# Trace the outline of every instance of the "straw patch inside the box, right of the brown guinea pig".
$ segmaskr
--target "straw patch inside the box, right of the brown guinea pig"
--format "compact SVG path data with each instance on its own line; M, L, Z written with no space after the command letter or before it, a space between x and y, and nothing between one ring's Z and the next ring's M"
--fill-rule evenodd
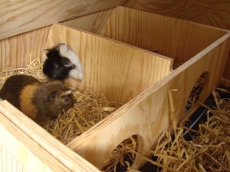
M90 89L73 91L77 102L64 115L44 127L50 134L67 144L121 106L109 102L104 95L96 96Z

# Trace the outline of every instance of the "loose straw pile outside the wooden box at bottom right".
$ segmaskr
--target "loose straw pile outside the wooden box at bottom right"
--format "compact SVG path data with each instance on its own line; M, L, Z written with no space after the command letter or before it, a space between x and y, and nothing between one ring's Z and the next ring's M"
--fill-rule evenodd
M208 120L193 131L192 141L183 138L187 128L182 123L174 130L175 138L169 131L159 137L151 151L156 161L135 153L159 167L158 171L230 171L230 99L221 99L216 90L212 93L216 106L206 107Z

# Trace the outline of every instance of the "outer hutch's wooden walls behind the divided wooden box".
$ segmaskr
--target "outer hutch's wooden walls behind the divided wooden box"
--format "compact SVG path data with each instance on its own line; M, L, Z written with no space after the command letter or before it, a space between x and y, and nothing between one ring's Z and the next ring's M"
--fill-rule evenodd
M118 5L230 30L230 0L3 0L0 70L25 66L30 54L41 56L51 24L64 21L96 33ZM228 66L230 55L223 75L230 80Z

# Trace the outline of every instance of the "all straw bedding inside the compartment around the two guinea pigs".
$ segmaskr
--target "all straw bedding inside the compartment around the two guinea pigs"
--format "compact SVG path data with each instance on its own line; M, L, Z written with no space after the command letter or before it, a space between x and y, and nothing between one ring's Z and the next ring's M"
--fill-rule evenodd
M36 58L30 60L25 68L8 67L4 69L0 73L0 88L9 76L17 74L33 76L40 82L48 81L42 72L42 66L40 59ZM73 95L77 100L74 107L64 112L64 115L59 115L51 124L43 126L63 144L69 143L121 106L119 103L109 102L104 95L95 95L88 88L73 90Z

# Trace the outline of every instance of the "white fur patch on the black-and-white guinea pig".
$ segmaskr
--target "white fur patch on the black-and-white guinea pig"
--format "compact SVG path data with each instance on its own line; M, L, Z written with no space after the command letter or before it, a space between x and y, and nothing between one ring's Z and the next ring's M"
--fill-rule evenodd
M83 79L82 64L78 55L67 44L61 44L59 46L59 52L61 56L68 58L74 65L75 69L70 71L70 77Z

